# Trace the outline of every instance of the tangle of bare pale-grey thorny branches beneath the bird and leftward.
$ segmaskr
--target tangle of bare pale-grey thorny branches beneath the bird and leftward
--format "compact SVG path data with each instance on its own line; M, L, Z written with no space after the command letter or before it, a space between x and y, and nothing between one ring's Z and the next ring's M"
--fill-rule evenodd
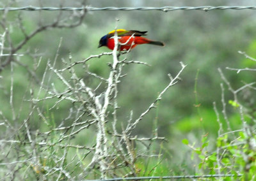
M19 17L20 31L24 39L14 45L8 29L4 12L1 26L0 66L1 70L10 65L10 112L6 117L0 108L0 126L5 134L0 140L1 169L3 179L38 180L75 180L83 178L108 178L136 176L140 172L136 161L141 157L159 157L149 149L156 140L166 141L154 134L143 138L132 131L144 119L152 108L156 107L164 92L179 82L180 73L186 67L180 62L181 69L175 76L168 75L170 83L166 85L151 105L139 117L133 113L127 120L118 118L118 84L122 83L122 69L129 64L142 64L140 61L127 61L125 54L118 52L118 37L115 36L115 49L110 53L91 55L83 61L73 61L70 54L67 59L59 57L61 40L53 61L45 66L44 75L37 76L42 65L42 57L33 58L33 68L19 61L18 51L36 34L50 28L75 27L81 24L85 12L79 14L77 22L66 24L60 15L47 25L39 25L32 33L26 33ZM129 52L129 51L128 51ZM126 53L128 53L126 52ZM86 62L101 56L112 55L107 78L88 70ZM61 59L61 60L60 60ZM122 60L120 60L122 59ZM63 67L56 68L56 61L62 61ZM23 66L30 78L23 98L19 98L19 107L15 105L13 95L13 72L17 66ZM89 85L77 76L76 66L81 66L97 85ZM39 85L39 87L38 87ZM101 92L99 92L102 90ZM51 112L65 104L67 116L56 120ZM25 106L26 105L26 106ZM68 105L68 106L67 106ZM25 117L21 116L26 115ZM120 124L126 122L126 124ZM33 126L38 123L40 127ZM121 125L121 128L118 126ZM36 129L35 129L36 127ZM86 136L83 143L77 143L77 136Z

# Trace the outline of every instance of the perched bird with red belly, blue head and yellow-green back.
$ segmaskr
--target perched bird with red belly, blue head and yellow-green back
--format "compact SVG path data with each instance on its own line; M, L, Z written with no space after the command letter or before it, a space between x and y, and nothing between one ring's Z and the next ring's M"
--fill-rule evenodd
M158 45L161 47L164 46L164 43L161 41L153 41L144 38L143 36L147 35L147 31L116 29L100 38L98 48L105 46L110 50L113 50L115 48L115 40L113 38L113 36L115 36L115 31L118 35L118 41L120 43L118 50L120 51L130 50L140 44Z

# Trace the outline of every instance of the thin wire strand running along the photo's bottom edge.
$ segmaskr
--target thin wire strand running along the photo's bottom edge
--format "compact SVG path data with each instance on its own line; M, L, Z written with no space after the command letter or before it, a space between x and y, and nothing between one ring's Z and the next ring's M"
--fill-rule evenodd
M88 181L115 181L115 180L147 180L147 179L180 179L180 178L223 178L223 177L235 177L232 174L223 174L223 175L180 175L180 176L164 176L164 177L125 177L125 178L109 178L102 180L88 180ZM238 174L236 177L242 177L242 175Z

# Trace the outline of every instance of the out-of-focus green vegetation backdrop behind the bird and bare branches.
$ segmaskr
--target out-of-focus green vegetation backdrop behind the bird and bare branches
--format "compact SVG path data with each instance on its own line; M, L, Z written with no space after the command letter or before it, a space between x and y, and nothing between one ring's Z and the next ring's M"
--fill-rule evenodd
M79 6L79 1L42 1L42 6ZM4 4L4 3L2 3ZM6 5L6 4L5 4ZM38 1L19 1L13 6L38 6ZM86 5L92 7L138 7L138 6L250 6L253 1L159 1L159 0L133 0L133 1L86 1ZM58 15L57 11L22 11L9 12L11 37L14 42L22 40L19 26L15 18L21 13L26 32L31 32L40 22L42 24L52 22ZM70 12L63 12L63 17L69 16ZM182 145L183 138L189 140L200 140L201 136L209 134L215 137L218 133L218 123L212 103L216 102L218 111L221 112L221 89L220 73L218 68L230 81L234 89L243 86L243 82L255 81L255 74L242 71L225 69L231 68L255 68L255 64L238 54L237 51L245 51L248 55L256 57L255 41L255 10L212 10L212 11L89 11L83 20L83 24L74 29L49 29L38 35L19 51L23 54L27 50L31 55L19 57L20 61L32 67L33 55L42 55L42 64L45 65L48 59L53 61L60 39L62 38L60 56L57 67L63 67L61 58L68 59L72 55L72 61L81 61L90 55L97 55L102 52L110 52L108 48L97 48L100 38L115 29L116 18L118 28L139 31L148 31L148 38L164 41L165 47L151 45L140 45L131 51L128 60L143 61L151 67L130 64L125 66L124 73L127 76L122 78L119 87L118 117L120 122L129 119L131 110L134 112L134 119L141 112L145 111L150 103L157 98L169 83L168 73L173 76L181 68L180 61L188 66L180 76L182 81L171 87L159 102L157 110L150 112L140 122L134 134L138 136L152 135L153 121L157 116L159 136L165 136L169 143L166 143L166 150L170 153L173 163L181 165L186 157L186 146ZM1 33L3 33L1 29ZM39 57L36 58L39 61ZM35 60L36 60L35 59ZM108 62L112 61L111 56L103 56L100 59L88 61L89 70L100 76L107 77L109 73ZM29 73L25 68L13 64L13 100L14 108L19 111L20 100L24 98L25 92L29 89ZM42 78L45 66L38 71ZM196 79L196 74L197 81ZM1 111L8 119L12 118L10 110L10 66L4 68L0 79L0 102ZM83 69L77 67L77 76L84 78L85 82L95 86ZM195 83L196 94L195 94ZM62 85L55 85L61 89ZM99 93L102 89L99 89ZM248 93L249 94L249 93ZM255 95L247 96L246 92L239 94L239 101L255 98ZM197 101L196 97L197 96ZM228 101L232 94L225 86L225 99ZM46 103L51 107L54 101ZM195 105L199 105L196 107ZM252 103L255 107L255 103ZM252 107L253 107L252 106ZM65 103L53 109L52 113L57 124L67 117ZM239 127L241 122L237 120L234 108L228 105L228 117L232 129ZM26 106L22 109L21 115L26 117ZM20 116L22 117L22 116ZM202 119L201 119L202 118ZM223 117L221 116L221 120ZM19 121L19 120L18 120ZM20 120L22 121L22 120ZM40 122L35 122L34 129L41 127ZM227 127L224 124L224 127ZM77 139L84 139L83 137ZM79 140L77 140L79 142Z

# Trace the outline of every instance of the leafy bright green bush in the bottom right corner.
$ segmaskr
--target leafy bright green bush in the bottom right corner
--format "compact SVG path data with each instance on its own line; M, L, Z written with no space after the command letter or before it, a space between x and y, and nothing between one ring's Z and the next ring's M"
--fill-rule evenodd
M209 151L209 140L202 138L201 146L195 148L188 140L182 141L192 148L192 156L198 157L198 170L204 174L233 174L239 180L253 180L256 172L255 143L256 135L248 136L239 131L234 134L223 134L216 140L216 150ZM229 178L231 179L231 178ZM231 179L232 180L232 179Z

